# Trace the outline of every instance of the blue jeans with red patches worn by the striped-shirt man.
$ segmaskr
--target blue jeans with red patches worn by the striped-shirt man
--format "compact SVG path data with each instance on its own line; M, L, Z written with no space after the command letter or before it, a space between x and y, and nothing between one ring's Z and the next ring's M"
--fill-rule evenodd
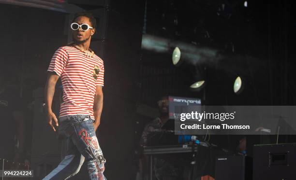
M90 180L106 180L106 162L89 115L64 116L59 119L59 133L66 137L65 158L43 180L66 180L87 163Z

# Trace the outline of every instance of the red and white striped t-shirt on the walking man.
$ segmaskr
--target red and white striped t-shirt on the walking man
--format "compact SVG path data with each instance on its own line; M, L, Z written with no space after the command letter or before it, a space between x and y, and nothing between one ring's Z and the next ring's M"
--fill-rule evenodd
M63 86L59 117L89 114L94 118L96 86L104 86L103 60L97 55L87 57L73 46L63 46L53 55L47 71L56 72Z

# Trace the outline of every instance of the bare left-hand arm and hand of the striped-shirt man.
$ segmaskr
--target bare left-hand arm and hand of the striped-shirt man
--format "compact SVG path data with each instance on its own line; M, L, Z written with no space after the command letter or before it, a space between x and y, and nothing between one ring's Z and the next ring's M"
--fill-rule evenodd
M54 72L50 72L47 75L47 80L45 84L45 108L46 108L46 115L47 115L47 123L52 127L54 131L56 131L53 121L55 122L56 126L59 126L58 119L56 115L52 112L51 105L52 99L55 94L55 87L56 83L59 80L59 75L55 74Z

